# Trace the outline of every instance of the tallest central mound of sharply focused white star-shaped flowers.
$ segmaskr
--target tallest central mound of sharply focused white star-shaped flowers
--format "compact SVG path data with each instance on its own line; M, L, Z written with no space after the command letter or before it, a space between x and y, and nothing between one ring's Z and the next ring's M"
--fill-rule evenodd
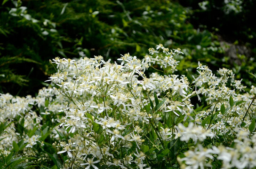
M189 115L192 105L187 93L189 82L185 76L144 75L145 69L155 64L174 72L178 63L174 56L182 52L180 49L169 52L161 44L156 50L151 48L149 51L152 55L143 60L124 54L118 59L120 64L104 61L102 56L77 61L56 58L52 61L57 64L58 72L49 81L59 86L59 92L71 100L61 110L65 116L60 125L69 133L75 133L76 139L56 145L63 149L58 154L67 153L70 157L70 161L66 161L67 166L75 156L76 165L87 168L97 168L95 163L124 169L150 167L141 147L147 133L144 128L152 130L151 123L161 120L159 113L144 109L150 103L149 98L154 100L153 92L159 101L163 101L162 92L183 98L181 102L164 100L158 111L176 116L186 114L192 118ZM144 92L149 94L149 98L144 96ZM152 104L156 106L155 102ZM174 133L168 131L163 129L156 141L174 138ZM133 146L136 148L129 152ZM114 149L123 149L124 152ZM117 159L121 153L127 158Z

